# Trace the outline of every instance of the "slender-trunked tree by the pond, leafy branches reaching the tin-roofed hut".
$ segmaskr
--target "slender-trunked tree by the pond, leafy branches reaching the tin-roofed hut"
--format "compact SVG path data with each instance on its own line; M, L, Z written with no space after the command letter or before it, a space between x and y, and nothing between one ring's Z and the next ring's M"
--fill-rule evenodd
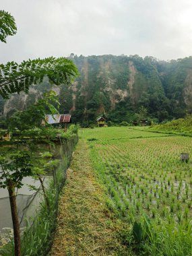
M37 177L42 185L44 199L49 210L49 200L46 197L41 175L47 168L53 168L56 164L50 152L40 152L37 144L40 141L53 144L53 138L57 136L57 129L40 128L40 122L44 119L46 111L55 114L57 109L53 104L58 104L55 92L46 93L44 98L23 112L15 113L9 119L9 131L14 132L11 137L11 146L1 147L0 156L0 187L7 188L11 205L13 220L13 234L15 243L15 255L21 255L20 224L16 204L15 189L22 187L24 177ZM39 128L38 128L39 127ZM27 139L26 139L27 138Z

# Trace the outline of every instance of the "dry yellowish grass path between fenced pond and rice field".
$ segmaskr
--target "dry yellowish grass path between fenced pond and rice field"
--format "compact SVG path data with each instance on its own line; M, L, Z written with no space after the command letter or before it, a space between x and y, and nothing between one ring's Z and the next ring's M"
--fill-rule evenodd
M117 238L120 226L104 207L104 189L94 177L88 145L80 139L67 170L49 255L129 255Z

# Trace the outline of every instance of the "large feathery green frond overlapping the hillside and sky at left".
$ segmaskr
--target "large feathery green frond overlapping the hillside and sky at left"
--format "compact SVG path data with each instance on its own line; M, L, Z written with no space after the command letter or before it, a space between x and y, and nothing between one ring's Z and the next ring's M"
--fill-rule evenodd
M13 92L28 92L32 84L42 82L44 76L51 84L69 84L78 71L69 59L49 57L18 64L14 61L0 65L0 94L8 98Z

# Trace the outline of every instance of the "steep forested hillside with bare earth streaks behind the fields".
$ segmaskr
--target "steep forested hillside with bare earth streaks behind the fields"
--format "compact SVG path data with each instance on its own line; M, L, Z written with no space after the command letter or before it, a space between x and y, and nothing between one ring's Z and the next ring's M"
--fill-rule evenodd
M90 56L71 54L79 77L69 87L53 87L59 94L61 113L71 113L75 123L94 123L105 115L108 121L164 121L184 117L192 110L192 57L158 61L153 57ZM13 95L0 101L0 113L10 116L35 102L51 85L44 79L28 95Z

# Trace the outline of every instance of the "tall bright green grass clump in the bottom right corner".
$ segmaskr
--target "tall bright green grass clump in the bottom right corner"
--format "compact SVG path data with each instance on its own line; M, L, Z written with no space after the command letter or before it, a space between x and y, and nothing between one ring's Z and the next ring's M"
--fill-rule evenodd
M141 252L144 251L145 255L191 254L191 222L184 220L178 223L171 214L168 217L168 220L156 218L152 221L146 215L141 217Z

